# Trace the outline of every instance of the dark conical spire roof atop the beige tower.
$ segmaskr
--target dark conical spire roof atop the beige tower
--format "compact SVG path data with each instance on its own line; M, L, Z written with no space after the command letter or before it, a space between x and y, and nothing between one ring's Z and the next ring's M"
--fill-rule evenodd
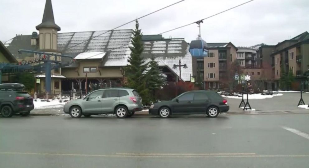
M39 30L41 27L53 27L60 31L60 27L55 23L51 0L46 0L42 23L36 26L36 30Z

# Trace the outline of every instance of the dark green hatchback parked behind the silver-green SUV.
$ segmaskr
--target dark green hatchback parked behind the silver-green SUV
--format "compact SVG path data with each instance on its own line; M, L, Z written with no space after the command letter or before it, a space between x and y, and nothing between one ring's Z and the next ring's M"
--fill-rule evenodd
M219 113L226 113L230 106L227 100L211 90L195 90L185 92L170 101L154 103L150 106L149 113L168 118L174 114L206 114L217 117Z

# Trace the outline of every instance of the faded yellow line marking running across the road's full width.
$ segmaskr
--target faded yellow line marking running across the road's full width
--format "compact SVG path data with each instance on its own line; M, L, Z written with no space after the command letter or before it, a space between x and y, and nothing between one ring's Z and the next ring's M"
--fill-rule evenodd
M32 153L32 152L0 152L0 155L50 155L50 156L92 156L92 157L134 157L134 158L233 158L233 157L309 157L309 155L89 155L89 154L65 154L65 153ZM225 155L224 155L225 154ZM250 153L249 153L250 154Z

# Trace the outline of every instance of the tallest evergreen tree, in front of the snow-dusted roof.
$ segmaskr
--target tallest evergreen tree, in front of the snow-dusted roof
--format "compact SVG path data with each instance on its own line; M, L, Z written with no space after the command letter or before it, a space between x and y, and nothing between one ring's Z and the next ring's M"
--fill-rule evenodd
M143 99L143 103L147 103L148 89L146 88L145 70L147 64L145 64L144 58L141 56L144 46L142 42L142 32L139 29L139 23L136 20L135 30L133 31L133 37L131 37L132 46L129 46L131 50L130 58L125 70L126 86L132 89L136 89Z

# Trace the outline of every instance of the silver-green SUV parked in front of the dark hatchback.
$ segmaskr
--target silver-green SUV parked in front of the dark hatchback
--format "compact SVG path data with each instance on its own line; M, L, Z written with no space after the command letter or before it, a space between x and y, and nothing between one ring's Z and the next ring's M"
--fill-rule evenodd
M71 100L64 105L64 113L72 118L82 115L116 114L118 118L131 117L143 109L142 98L134 89L99 89L86 97Z

